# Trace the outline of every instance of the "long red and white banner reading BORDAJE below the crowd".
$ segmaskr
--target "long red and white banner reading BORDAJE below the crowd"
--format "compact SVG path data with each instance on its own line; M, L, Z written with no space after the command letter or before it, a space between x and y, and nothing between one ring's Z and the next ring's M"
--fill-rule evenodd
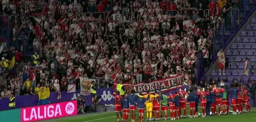
M146 94L147 91L150 91L150 93L153 93L156 90L159 90L159 88L162 92L180 89L183 82L184 82L183 75L178 74L173 77L167 77L164 79L155 80L155 81L152 81L151 83L141 82L137 85L123 83L122 85L123 87L125 87L126 92L131 92L131 90L135 90L135 93ZM115 89L117 85L118 83L114 83L114 87L113 87L114 95L115 95Z

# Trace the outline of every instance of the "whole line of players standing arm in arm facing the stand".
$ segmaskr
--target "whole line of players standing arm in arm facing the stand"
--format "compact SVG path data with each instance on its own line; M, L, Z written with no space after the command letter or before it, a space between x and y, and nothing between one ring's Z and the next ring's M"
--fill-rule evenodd
M189 92L185 92L183 87L181 87L180 91L175 92L167 96L163 92L155 92L155 94L150 94L147 91L146 95L134 94L133 90L131 94L126 94L124 97L119 95L119 91L117 91L117 95L115 95L115 112L117 114L117 121L119 121L119 113L122 121L127 121L129 111L131 115L131 121L135 122L135 111L138 107L139 112L139 121L143 121L144 118L144 108L146 105L146 113L147 120L160 120L163 118L167 120L167 111L168 107L171 113L171 120L180 119L181 110L184 111L184 116L187 115L185 101L189 102L189 109L191 117L197 117L196 108L198 106L198 99L201 102L201 108L203 110L203 116L210 116L210 111L212 115L215 115L216 108L218 107L218 115L222 114L226 115L229 112L229 98L232 99L233 106L233 115L237 113L243 112L243 107L246 107L246 111L250 112L250 94L247 85L240 85L238 83L231 83L230 89L228 86L221 86L220 88L216 86L216 89L213 90L212 87L200 88L200 90L193 90ZM122 105L122 106L121 106ZM159 118L159 111L161 108L161 115ZM238 112L237 112L238 108ZM122 112L123 110L123 112ZM156 118L155 118L156 113Z

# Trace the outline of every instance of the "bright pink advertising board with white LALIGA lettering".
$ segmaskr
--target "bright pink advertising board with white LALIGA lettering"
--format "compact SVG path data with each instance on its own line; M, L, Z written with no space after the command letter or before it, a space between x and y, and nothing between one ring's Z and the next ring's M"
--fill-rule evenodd
M77 115L76 100L21 108L21 122L40 121Z

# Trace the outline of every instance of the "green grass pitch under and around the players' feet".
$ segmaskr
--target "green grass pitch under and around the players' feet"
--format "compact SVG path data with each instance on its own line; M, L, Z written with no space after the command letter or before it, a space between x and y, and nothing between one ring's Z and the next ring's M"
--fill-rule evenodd
M244 109L245 110L245 109ZM201 110L199 109L201 113ZM187 109L187 115L190 114L190 111ZM146 112L144 113L144 119L146 118ZM183 115L183 112L181 112ZM170 116L170 112L168 112L168 116ZM120 120L120 118L119 118ZM101 112L101 113L89 113L84 115L63 117L59 119L46 120L44 122L115 122L117 121L117 117L115 116L115 112ZM130 121L130 115L129 115ZM138 113L136 114L136 121L138 121ZM174 121L168 119L167 121ZM229 113L228 115L215 115L210 117L197 117L197 118L181 118L180 120L175 121L195 121L195 122L254 122L256 121L256 110L253 110L251 113L241 113L240 115L232 115ZM164 120L159 120L159 122L164 122Z

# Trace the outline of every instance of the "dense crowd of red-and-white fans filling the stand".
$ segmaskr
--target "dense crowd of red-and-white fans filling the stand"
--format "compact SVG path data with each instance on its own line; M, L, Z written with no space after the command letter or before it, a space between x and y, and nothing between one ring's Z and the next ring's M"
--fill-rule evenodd
M10 44L0 48L1 62L6 62L1 63L1 96L36 94L40 86L67 91L75 83L79 89L79 77L97 79L96 87L111 87L114 82L152 82L183 73L195 84L197 52L207 68L214 30L230 17L236 2L2 0ZM27 57L30 47L32 56ZM13 56L15 71L9 68Z

